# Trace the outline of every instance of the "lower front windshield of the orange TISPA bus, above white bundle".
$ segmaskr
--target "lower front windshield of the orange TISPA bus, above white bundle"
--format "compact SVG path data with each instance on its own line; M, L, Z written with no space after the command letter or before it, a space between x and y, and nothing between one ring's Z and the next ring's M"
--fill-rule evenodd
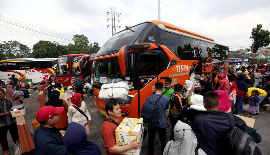
M94 83L96 85L126 82L130 87L133 86L132 69L133 54L128 54L129 73L128 77L122 76L118 57L93 61Z

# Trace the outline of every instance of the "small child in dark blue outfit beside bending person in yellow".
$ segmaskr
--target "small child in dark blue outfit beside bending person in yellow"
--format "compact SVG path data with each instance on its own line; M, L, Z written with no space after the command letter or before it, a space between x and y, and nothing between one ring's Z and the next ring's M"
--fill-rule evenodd
M251 114L253 114L253 116L251 118L255 118L255 114L259 105L259 91L258 90L252 90L252 97L250 99L250 103L249 103L249 114L247 114L246 116L251 116Z

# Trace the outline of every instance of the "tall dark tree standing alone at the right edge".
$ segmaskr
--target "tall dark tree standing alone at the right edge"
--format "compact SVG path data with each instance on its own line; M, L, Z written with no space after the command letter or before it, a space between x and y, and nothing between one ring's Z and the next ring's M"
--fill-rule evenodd
M250 47L253 53L258 51L259 47L268 46L270 43L270 32L268 30L262 30L262 24L257 24L256 28L251 31L252 45Z

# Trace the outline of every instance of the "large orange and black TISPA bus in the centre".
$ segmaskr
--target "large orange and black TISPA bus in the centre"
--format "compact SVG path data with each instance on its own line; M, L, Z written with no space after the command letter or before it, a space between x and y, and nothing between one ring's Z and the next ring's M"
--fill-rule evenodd
M171 86L194 80L200 72L228 72L228 46L214 39L158 20L114 34L91 56L95 105L103 115L106 101L98 95L102 83L127 82L134 98L118 101L122 116L139 117L157 81ZM102 80L102 81L101 81Z

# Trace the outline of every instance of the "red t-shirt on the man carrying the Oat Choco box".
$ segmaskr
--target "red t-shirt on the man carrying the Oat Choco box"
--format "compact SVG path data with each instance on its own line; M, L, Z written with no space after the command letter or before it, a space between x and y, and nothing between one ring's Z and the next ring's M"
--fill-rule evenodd
M106 117L108 118L108 117ZM121 121L123 120L122 117L117 118L117 123L120 124ZM109 122L109 121L104 121L101 127L101 135L104 141L105 149L106 149L106 154L107 155L117 155L115 153L110 153L108 150L108 147L112 147L116 145L115 142L115 130L117 126L116 124Z

